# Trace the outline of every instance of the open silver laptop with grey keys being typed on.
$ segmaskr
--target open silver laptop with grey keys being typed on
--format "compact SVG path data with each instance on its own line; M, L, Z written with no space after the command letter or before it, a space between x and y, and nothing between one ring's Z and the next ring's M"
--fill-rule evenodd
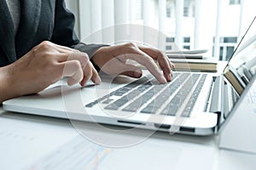
M86 88L61 80L38 94L5 101L3 109L168 133L218 133L255 82L254 20L218 77L173 71L172 82L160 84L143 71L140 79L102 75L101 85Z

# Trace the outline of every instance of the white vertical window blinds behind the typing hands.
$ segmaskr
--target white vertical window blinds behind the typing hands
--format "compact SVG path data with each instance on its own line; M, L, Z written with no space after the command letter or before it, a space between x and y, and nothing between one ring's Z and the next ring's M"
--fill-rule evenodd
M173 39L177 49L207 48L208 55L215 57L224 48L221 42L225 37L222 35L222 18L230 0L78 1L80 37L86 42L137 40L166 50L166 41ZM248 0L239 4L237 40L245 30L245 4L249 4ZM230 8L236 8L236 5Z

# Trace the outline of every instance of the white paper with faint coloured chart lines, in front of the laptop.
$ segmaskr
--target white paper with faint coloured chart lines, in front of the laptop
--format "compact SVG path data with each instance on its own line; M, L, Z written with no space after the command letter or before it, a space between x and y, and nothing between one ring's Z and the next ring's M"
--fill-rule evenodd
M214 150L199 144L148 139L124 148L108 148L78 135L58 150L35 161L32 169L210 169ZM153 163L154 162L154 163Z

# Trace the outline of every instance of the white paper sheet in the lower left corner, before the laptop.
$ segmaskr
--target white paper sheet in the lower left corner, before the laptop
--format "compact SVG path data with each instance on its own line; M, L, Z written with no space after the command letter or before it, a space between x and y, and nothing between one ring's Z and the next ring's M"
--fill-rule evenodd
M0 114L0 169L23 169L73 139L68 123Z

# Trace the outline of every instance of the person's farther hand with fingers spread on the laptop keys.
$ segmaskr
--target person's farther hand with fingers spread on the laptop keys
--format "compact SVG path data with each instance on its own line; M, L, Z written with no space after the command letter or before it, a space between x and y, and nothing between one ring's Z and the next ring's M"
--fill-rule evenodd
M125 75L128 77L142 77L142 70L135 66L127 64L127 60L135 60L144 65L148 71L161 83L172 81L172 69L174 65L159 50L147 47L138 47L134 43L125 43L122 45L100 48L92 57L96 65L108 75ZM158 62L159 66L156 64Z

